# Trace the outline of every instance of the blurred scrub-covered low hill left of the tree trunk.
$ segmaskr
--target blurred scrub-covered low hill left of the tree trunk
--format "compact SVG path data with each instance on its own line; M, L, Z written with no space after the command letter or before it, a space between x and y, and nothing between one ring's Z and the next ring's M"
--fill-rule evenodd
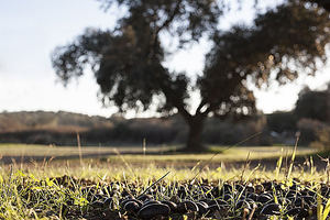
M125 119L73 112L20 111L0 113L0 143L84 145L184 142L186 125L170 118ZM179 139L179 140L178 140Z

